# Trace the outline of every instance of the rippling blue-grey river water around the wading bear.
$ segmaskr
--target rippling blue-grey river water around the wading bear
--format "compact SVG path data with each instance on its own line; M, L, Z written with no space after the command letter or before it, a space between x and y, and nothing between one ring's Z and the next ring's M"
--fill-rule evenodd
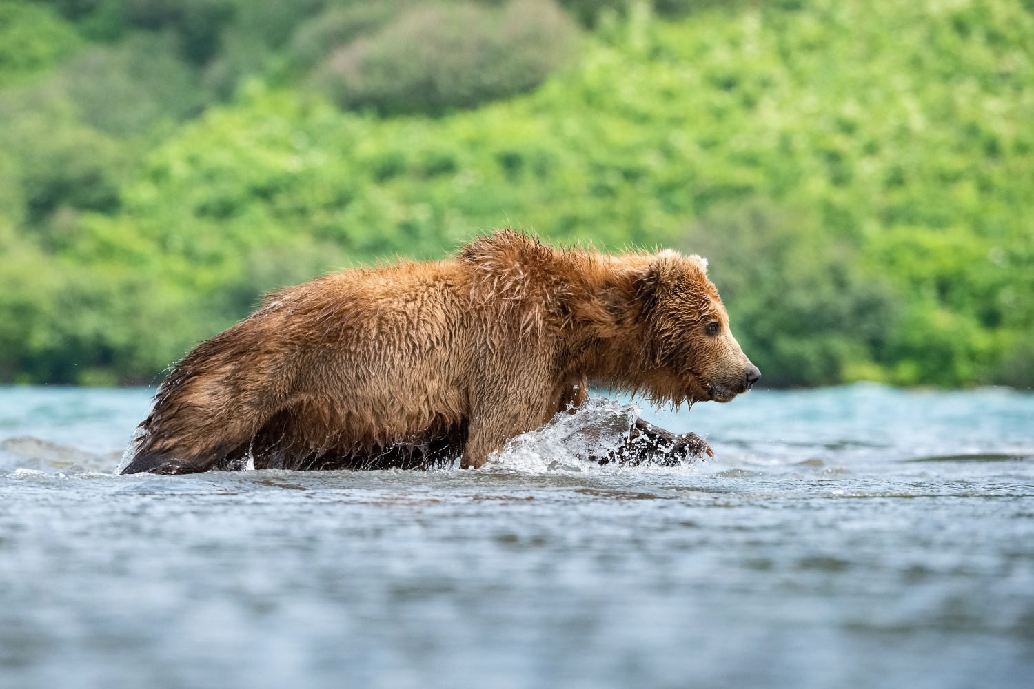
M644 411L716 450L675 468L556 428L477 471L116 476L151 393L0 388L0 686L1034 686L1030 394Z

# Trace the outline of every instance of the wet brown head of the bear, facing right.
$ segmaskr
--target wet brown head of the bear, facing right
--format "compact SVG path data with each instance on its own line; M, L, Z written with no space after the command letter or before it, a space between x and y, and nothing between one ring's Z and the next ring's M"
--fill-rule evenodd
M665 250L632 273L655 397L728 402L761 378L729 330L706 259Z

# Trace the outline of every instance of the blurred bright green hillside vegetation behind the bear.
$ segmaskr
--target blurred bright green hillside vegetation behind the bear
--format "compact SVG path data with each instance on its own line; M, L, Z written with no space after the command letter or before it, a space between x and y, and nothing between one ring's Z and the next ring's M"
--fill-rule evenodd
M1034 4L545 2L0 2L0 380L510 223L708 256L770 384L1034 385Z

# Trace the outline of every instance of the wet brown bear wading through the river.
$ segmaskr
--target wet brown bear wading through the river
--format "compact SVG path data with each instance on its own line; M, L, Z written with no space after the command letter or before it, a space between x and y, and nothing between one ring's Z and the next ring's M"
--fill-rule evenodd
M728 402L761 374L706 268L669 250L557 249L507 228L450 260L286 287L175 366L123 473L459 457L477 468L589 384Z

